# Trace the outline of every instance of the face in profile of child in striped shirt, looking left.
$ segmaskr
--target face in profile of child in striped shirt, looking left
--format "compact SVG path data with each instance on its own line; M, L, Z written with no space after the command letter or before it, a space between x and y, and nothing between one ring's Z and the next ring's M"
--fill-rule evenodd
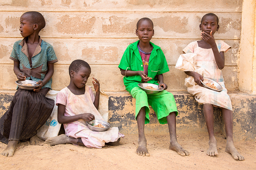
M23 14L20 17L20 34L22 37L27 37L34 32L34 24L30 22L30 16Z

